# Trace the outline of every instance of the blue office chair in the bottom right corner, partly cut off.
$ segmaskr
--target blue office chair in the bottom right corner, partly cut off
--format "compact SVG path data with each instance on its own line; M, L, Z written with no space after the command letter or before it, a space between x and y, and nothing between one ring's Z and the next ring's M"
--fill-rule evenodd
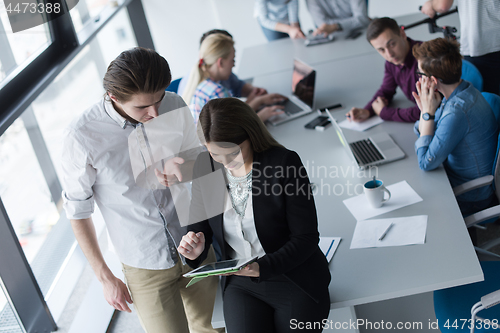
M434 313L441 332L482 333L500 330L500 306L494 307L500 302L500 261L480 263L484 273L483 282L434 292ZM476 303L479 299L481 302ZM480 318L476 317L479 311ZM485 325L486 321L480 324L477 321L480 319L488 319L490 323L496 320L499 326L492 329L491 325ZM472 322L476 323L475 330Z

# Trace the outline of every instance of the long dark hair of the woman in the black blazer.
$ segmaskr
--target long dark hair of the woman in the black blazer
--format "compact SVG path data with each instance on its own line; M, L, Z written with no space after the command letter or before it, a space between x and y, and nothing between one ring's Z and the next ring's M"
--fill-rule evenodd
M202 142L227 142L236 145L250 141L254 152L282 147L269 133L255 111L237 98L217 98L208 101L198 120ZM203 136L203 137L201 137Z

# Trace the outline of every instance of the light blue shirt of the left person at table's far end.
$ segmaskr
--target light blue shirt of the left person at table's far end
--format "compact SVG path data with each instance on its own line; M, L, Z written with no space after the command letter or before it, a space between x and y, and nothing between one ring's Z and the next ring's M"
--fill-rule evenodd
M299 22L298 0L256 0L254 16L260 25L275 30L277 23Z

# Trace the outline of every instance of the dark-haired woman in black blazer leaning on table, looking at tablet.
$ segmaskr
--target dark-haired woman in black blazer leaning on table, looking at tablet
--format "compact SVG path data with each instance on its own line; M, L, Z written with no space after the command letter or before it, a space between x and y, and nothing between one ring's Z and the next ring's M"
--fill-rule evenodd
M235 98L209 101L198 134L208 152L194 167L192 224L179 253L198 267L215 236L224 260L259 256L222 277L228 332L321 332L330 271L299 156Z

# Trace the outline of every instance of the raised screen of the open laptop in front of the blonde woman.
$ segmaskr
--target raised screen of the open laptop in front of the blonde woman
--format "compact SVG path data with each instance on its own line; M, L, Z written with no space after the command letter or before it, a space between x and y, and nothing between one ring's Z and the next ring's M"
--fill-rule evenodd
M311 109L313 108L315 83L316 71L303 62L294 59L292 92Z

